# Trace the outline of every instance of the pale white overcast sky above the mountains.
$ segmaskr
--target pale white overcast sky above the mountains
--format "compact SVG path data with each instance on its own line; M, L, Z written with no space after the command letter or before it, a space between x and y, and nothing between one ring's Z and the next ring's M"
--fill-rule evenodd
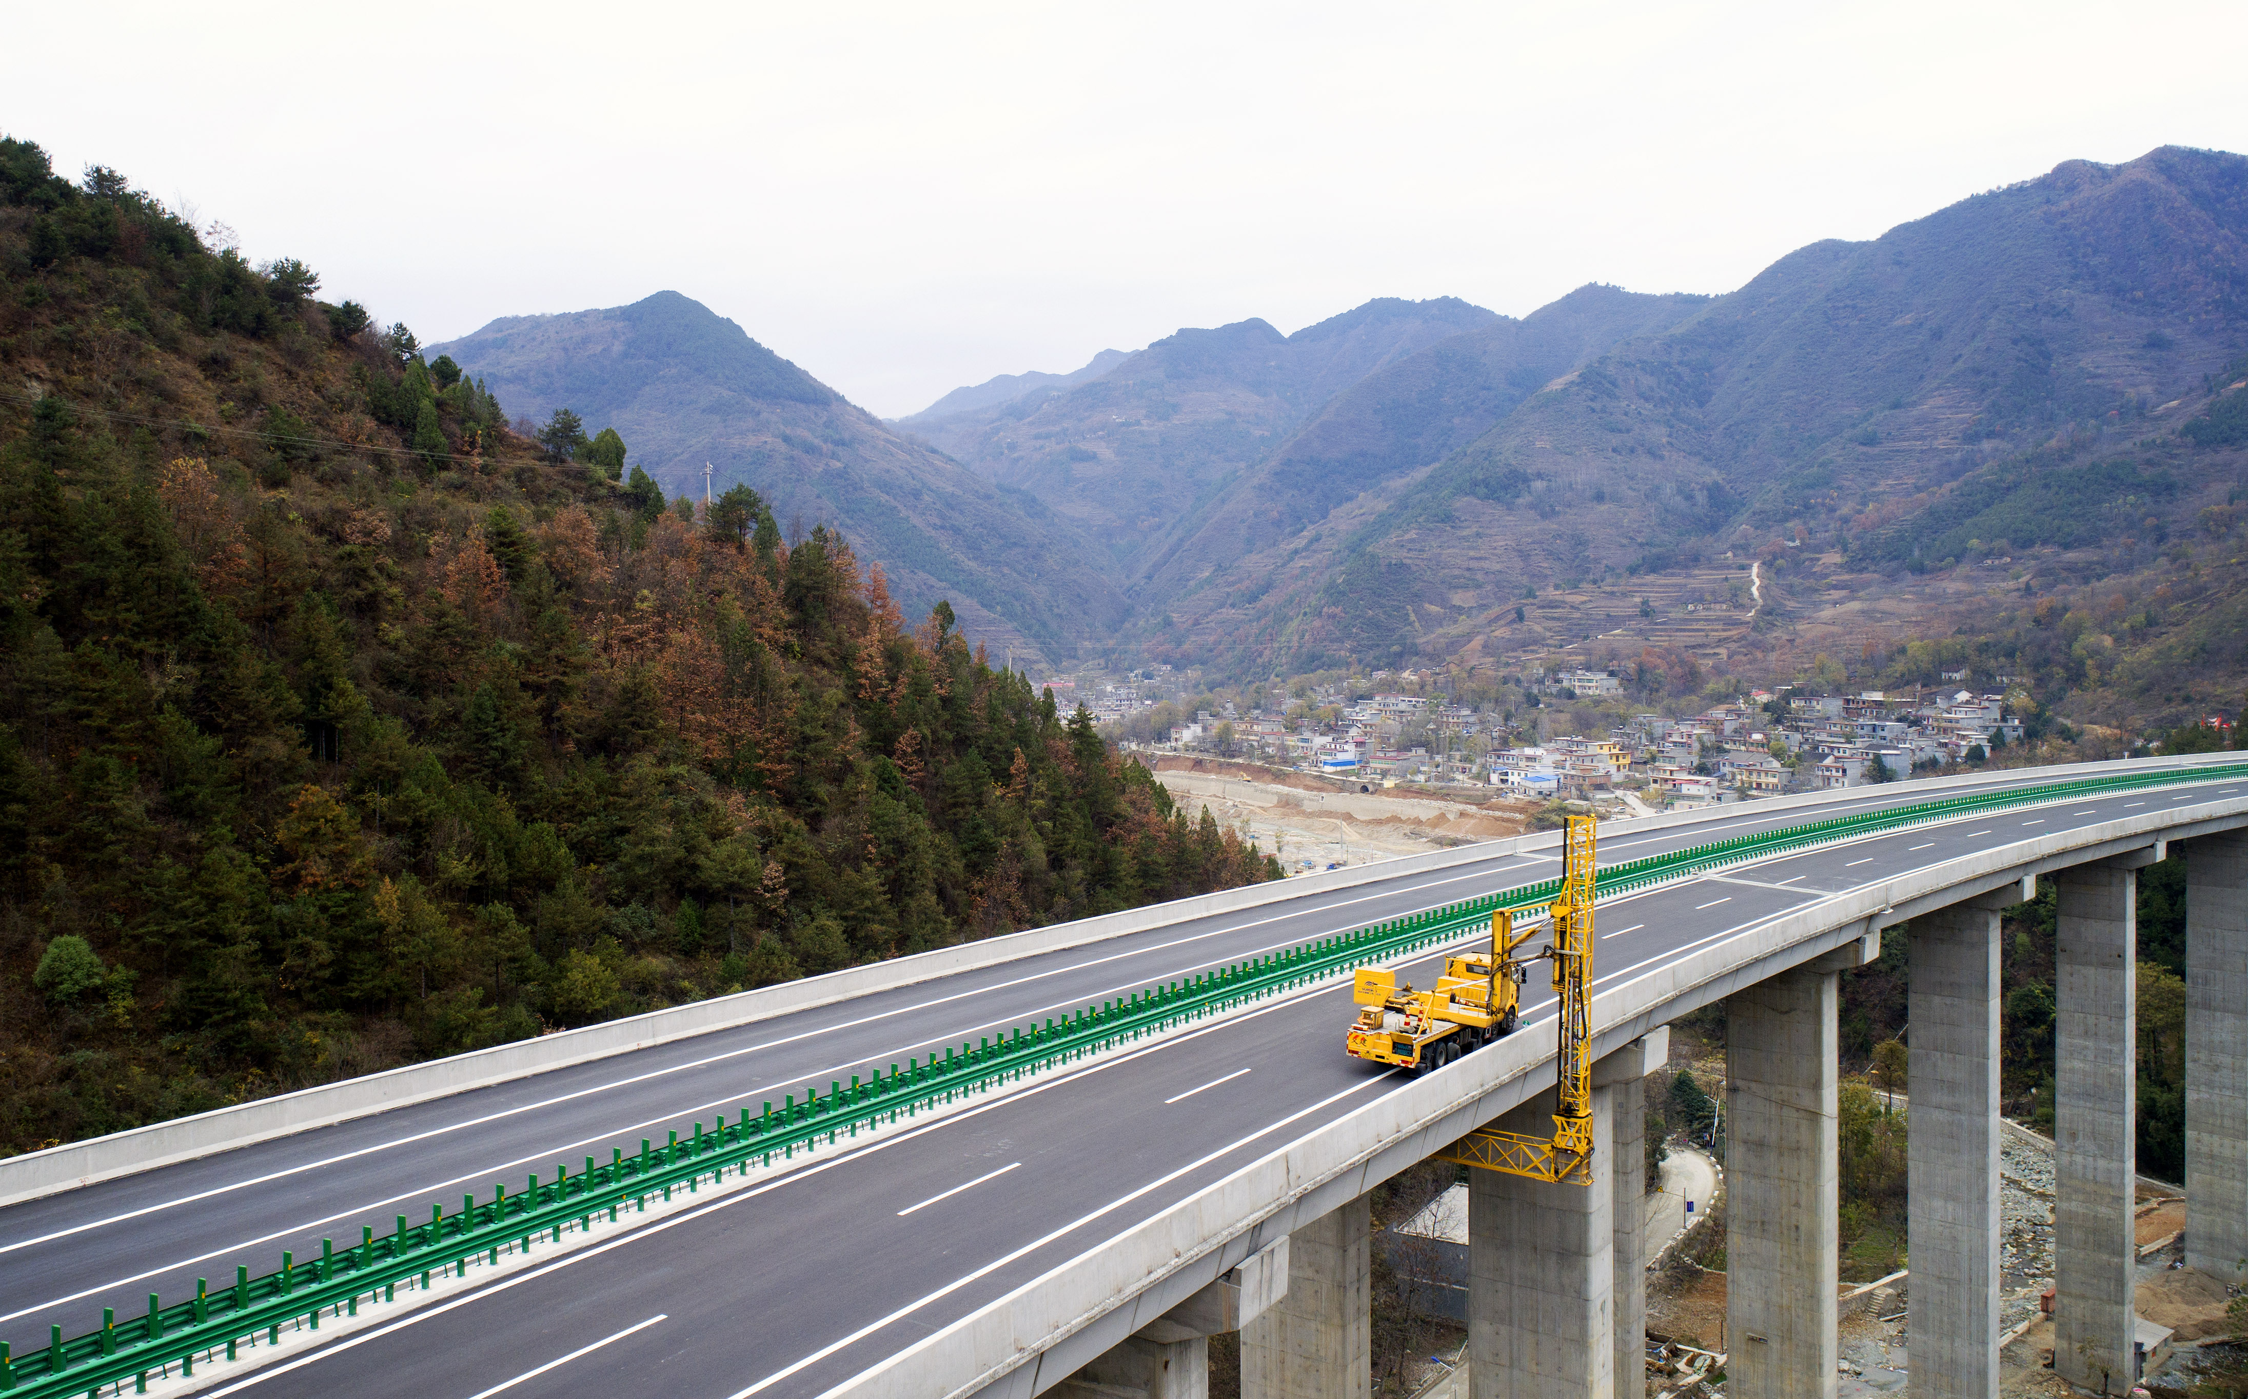
M2248 4L45 4L0 128L425 341L672 287L859 404L1369 296L1724 292L2248 150Z

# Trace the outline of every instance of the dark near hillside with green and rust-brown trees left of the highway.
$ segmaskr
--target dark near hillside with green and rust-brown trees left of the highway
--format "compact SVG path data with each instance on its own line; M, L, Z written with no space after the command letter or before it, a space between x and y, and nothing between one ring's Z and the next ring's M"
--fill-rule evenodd
M951 609L0 141L0 1152L1275 878Z

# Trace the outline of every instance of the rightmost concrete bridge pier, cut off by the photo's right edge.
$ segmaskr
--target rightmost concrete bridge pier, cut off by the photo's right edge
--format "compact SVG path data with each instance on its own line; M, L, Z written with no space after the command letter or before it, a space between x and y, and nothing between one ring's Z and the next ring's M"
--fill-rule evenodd
M2248 1282L2248 835L2185 856L2185 1262Z

